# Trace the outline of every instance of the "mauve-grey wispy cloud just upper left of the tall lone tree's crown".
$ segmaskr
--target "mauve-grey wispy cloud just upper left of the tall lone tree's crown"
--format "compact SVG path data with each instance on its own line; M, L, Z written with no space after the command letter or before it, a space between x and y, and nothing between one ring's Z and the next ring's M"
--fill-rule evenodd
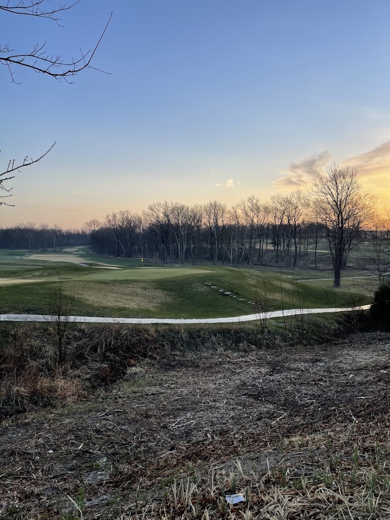
M326 170L330 162L330 153L324 150L314 153L308 159L290 163L288 172L274 182L281 188L303 188L313 182L319 173Z

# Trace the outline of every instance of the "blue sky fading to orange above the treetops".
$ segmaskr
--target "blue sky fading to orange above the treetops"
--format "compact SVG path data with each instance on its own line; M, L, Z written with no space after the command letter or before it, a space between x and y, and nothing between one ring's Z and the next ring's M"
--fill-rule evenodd
M333 162L390 203L388 0L80 0L63 27L0 11L0 46L77 58L111 10L105 72L69 85L16 66L15 84L0 64L0 171L56 141L8 183L0 227L265 201Z

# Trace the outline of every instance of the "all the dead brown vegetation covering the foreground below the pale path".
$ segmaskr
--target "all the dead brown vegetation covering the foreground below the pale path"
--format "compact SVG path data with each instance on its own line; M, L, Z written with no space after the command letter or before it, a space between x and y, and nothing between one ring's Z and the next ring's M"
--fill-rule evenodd
M388 517L390 336L175 353L180 331L96 326L50 368L24 327L20 359L2 351L30 374L2 424L2 520Z

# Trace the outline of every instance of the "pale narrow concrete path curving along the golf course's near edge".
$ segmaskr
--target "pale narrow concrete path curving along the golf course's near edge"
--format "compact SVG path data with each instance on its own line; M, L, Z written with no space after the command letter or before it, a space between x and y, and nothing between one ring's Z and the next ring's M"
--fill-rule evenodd
M361 307L333 307L326 309L288 309L274 310L269 313L246 314L243 316L232 316L230 318L200 318L200 319L173 319L173 318L102 318L94 316L70 316L73 323L134 323L134 324L190 324L190 323L239 323L242 321L255 321L259 319L281 318L283 316L294 316L301 314L324 314L324 313L347 313L351 310L366 310L370 305ZM50 315L43 314L2 314L0 321L54 321Z

